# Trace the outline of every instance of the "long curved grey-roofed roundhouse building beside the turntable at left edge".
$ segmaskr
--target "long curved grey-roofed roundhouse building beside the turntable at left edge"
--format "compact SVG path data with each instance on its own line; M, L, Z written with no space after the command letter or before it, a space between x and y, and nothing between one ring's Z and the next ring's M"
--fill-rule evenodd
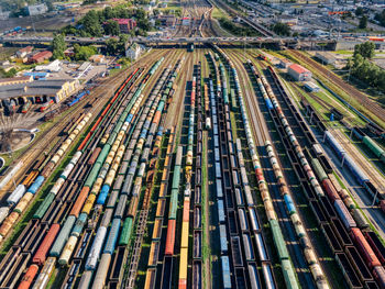
M26 99L30 99L32 103L52 99L57 103L73 95L78 88L79 81L72 79L12 82L0 86L0 100L2 102L13 99L18 104L23 104Z

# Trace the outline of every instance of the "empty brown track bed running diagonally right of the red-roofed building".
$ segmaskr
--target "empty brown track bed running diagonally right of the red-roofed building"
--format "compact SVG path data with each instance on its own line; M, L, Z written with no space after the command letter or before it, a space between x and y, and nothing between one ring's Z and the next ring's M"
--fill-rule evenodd
M367 96L362 93L356 88L343 81L340 77L336 76L332 71L324 68L321 64L317 63L314 59L310 59L301 52L289 51L295 57L306 63L309 67L315 70L318 70L326 79L338 86L340 89L345 91L346 95L353 97L359 103L361 103L365 109L375 114L382 121L385 121L385 109L383 109L375 101L371 100Z

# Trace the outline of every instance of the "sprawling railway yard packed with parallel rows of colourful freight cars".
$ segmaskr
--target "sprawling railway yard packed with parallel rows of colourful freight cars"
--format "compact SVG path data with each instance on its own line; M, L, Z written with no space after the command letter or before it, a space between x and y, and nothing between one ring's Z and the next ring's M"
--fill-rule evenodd
M221 33L180 7L175 35ZM310 102L265 52L153 48L52 108L0 177L0 288L385 288L383 108L287 49L363 109Z

